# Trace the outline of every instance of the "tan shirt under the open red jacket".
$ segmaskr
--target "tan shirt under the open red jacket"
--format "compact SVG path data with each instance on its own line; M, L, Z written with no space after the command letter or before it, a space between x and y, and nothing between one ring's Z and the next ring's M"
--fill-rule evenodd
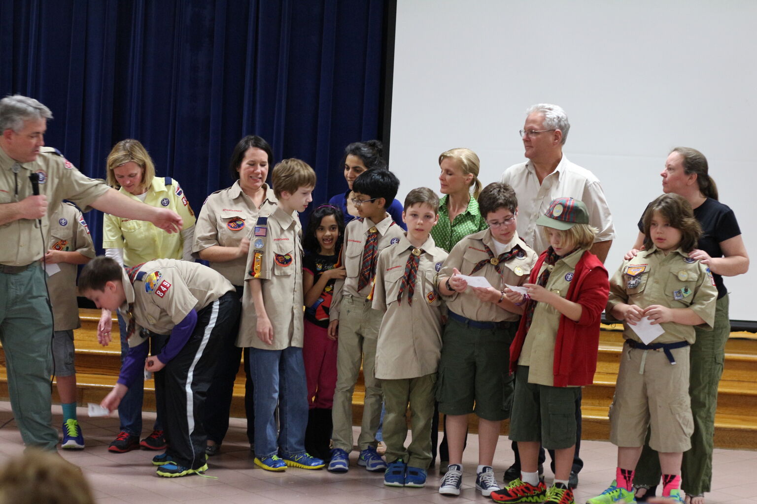
M581 260L586 249L578 249L566 257L559 258L555 268L547 280L545 289L555 292L561 298L568 294L570 283L575 272L575 265ZM547 267L541 265L539 274ZM528 383L538 385L554 385L553 363L555 362L555 342L557 329L560 325L560 312L549 303L537 303L531 327L525 335L521 355L518 358L520 366L530 366L528 369Z

